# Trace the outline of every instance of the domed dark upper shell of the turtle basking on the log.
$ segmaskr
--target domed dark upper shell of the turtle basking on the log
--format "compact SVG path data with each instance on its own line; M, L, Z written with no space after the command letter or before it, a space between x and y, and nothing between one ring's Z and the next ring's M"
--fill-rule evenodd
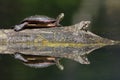
M30 16L28 18L25 18L21 23L24 22L28 22L28 23L35 23L35 24L39 24L39 23L54 23L56 22L56 19L54 18L50 18L44 15L35 15L35 16Z

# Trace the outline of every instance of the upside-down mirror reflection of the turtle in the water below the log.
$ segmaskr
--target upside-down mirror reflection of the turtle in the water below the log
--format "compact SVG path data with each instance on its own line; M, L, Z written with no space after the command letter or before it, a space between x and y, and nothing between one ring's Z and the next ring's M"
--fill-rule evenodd
M59 57L53 56L39 56L39 55L24 55L21 53L15 53L15 59L21 60L26 66L34 68L45 68L51 65L55 65L63 70L64 67L60 64Z

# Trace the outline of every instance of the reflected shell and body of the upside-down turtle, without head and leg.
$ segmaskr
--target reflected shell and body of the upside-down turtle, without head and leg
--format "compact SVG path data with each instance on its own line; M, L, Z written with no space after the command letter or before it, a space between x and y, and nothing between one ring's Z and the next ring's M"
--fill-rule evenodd
M27 59L27 62L24 62L25 65L35 68L44 68L55 64L55 58L49 56L24 56Z

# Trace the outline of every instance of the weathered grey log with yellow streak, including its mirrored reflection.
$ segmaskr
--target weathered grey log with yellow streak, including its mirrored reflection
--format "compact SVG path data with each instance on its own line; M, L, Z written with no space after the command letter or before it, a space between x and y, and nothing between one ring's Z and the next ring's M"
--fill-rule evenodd
M102 38L89 30L90 21L81 21L72 26L55 28L0 30L0 54L22 53L68 58L88 64L85 55L107 45L119 44L119 41Z

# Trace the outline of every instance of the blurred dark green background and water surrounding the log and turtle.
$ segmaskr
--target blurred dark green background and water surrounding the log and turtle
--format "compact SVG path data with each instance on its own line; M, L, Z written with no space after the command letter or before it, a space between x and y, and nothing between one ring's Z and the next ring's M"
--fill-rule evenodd
M90 20L90 30L109 39L120 40L120 0L0 0L0 28L12 28L25 17L61 12L63 25ZM108 46L88 55L90 65L62 59L65 66L35 69L10 55L0 55L0 80L119 80L120 46Z

